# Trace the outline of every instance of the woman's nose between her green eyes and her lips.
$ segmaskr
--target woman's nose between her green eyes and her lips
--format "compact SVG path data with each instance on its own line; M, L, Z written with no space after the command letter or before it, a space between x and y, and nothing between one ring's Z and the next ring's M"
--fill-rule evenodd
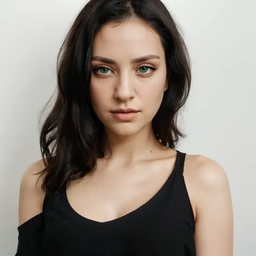
M114 90L114 98L122 102L127 102L127 100L133 99L136 92L132 84L132 78L129 74L120 76Z

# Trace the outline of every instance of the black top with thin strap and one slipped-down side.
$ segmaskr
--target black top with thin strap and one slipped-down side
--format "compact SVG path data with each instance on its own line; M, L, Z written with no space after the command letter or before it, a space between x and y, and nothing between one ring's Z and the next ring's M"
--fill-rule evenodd
M194 215L183 177L185 153L144 205L100 223L70 206L66 188L45 197L43 212L18 227L16 256L194 256Z

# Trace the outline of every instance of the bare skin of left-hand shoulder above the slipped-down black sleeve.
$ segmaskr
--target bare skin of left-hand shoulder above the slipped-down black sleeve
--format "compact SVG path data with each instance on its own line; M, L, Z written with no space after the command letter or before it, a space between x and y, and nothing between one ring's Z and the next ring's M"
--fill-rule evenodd
M45 168L43 160L37 160L25 170L19 188L19 225L42 212L45 192L39 172Z

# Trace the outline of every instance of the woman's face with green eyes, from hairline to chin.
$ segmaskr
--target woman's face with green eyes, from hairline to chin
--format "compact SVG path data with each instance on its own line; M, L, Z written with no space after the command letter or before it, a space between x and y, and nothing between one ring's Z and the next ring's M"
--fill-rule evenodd
M133 19L99 31L93 42L90 93L106 131L130 136L151 126L166 84L165 52L149 25Z

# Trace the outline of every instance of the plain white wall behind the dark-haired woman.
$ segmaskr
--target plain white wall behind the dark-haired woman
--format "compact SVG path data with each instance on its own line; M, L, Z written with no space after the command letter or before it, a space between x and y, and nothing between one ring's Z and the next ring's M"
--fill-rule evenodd
M21 176L41 158L38 117L56 85L56 58L86 1L0 0L0 255L17 248ZM256 2L165 0L193 64L179 150L218 161L230 180L234 255L256 245Z

